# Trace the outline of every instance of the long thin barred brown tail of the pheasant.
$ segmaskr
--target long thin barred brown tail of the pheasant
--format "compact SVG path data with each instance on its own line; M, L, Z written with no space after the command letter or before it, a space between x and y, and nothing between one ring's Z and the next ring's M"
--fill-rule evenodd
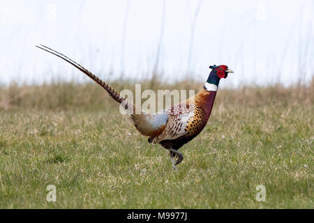
M128 109L130 112L133 112L135 110L135 106L131 102L126 100L126 98L121 96L118 91L112 89L112 87L109 84L107 84L103 80L99 79L96 75L93 75L89 70L83 68L79 63L76 63L75 61L71 60L67 56L64 56L63 54L60 54L59 52L55 51L54 49L51 49L51 48L46 47L44 45L40 44L40 46L36 45L36 47L43 49L47 52L50 52L50 54L54 54L54 55L60 57L61 59L65 60L66 62L70 63L71 65L75 66L75 68L84 72L85 75L90 77L92 80L94 80L94 82L96 82L103 89L105 89L105 91L107 91L107 93L111 96L111 98L113 98L114 100L116 100L119 103L123 102L121 105L123 105L125 109Z

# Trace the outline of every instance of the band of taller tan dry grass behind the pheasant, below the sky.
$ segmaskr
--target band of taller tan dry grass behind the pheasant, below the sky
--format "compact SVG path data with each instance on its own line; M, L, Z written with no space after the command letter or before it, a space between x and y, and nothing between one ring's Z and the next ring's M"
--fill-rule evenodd
M161 82L140 82L142 91L145 89L194 89L195 92L202 88L204 83L193 80L165 84ZM117 91L122 89L135 90L135 83L121 85L113 82L112 86ZM314 79L309 86L290 86L285 88L280 84L268 87L247 87L241 89L220 89L216 105L228 106L263 106L277 103L287 107L297 105L313 105L314 103ZM103 109L105 106L114 105L110 97L105 96L100 87L94 83L73 84L54 83L40 86L17 86L11 84L0 88L0 110L14 109Z

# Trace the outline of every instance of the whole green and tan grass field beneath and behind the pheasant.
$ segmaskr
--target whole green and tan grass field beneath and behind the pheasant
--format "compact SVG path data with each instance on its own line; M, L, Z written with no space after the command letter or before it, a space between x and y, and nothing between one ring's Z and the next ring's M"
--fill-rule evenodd
M313 95L314 82L219 90L174 171L96 84L3 87L0 208L314 208Z

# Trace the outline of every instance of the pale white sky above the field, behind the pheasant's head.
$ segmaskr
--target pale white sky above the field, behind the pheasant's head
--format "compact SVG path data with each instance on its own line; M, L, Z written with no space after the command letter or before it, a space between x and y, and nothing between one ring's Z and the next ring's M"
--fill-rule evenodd
M183 79L191 25L199 1L166 0L160 48L162 79ZM89 81L68 63L34 45L66 54L102 79L151 75L162 24L162 0L0 0L0 84L51 79ZM209 65L235 74L223 86L292 84L314 75L314 1L201 1L190 69L206 81ZM112 71L112 72L111 72Z

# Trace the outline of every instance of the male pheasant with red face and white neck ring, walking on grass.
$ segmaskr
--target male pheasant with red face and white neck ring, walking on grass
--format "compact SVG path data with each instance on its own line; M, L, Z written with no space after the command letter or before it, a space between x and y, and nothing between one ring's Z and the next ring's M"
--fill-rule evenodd
M184 158L182 153L178 151L179 148L196 137L207 124L220 79L226 78L230 72L233 73L225 65L209 66L211 72L209 73L207 82L197 94L180 102L178 105L167 107L154 114L148 114L144 111L135 112L135 105L132 102L129 102L118 91L112 89L109 84L103 82L96 75L67 56L44 45L36 45L36 47L50 52L55 56L59 56L103 87L114 100L130 112L135 128L142 135L149 137L148 142L150 144L160 144L163 148L170 151L170 159L174 169L177 169L177 164Z

